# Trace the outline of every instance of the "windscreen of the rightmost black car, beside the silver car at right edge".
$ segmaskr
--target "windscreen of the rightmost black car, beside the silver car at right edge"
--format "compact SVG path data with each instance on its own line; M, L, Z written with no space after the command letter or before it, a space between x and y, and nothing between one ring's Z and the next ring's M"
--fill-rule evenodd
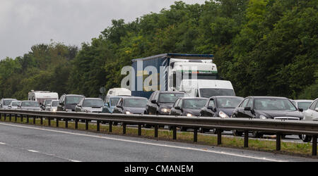
M287 99L255 99L254 108L257 110L297 111L293 103Z

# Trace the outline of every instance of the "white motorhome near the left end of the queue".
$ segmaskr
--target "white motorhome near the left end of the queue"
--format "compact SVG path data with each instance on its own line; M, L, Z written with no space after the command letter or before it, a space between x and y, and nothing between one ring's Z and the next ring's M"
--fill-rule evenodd
M37 101L38 103L43 103L47 99L59 100L59 94L57 94L57 92L34 91L34 90L28 93L29 101Z

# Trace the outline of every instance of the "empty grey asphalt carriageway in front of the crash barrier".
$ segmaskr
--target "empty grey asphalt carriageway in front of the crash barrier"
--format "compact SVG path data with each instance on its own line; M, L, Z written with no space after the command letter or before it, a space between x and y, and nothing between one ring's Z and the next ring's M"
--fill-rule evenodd
M312 158L0 122L0 161L317 161Z

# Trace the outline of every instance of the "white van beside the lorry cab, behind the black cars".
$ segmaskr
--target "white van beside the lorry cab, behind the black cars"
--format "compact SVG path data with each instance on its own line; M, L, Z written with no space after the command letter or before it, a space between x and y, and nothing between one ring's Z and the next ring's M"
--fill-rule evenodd
M177 89L191 97L235 96L232 83L225 80L182 80Z

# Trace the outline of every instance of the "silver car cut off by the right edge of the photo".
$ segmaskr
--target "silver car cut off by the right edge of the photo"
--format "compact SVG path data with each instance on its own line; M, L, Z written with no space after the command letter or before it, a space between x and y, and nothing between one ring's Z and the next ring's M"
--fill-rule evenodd
M315 99L307 109L307 111L304 112L304 120L313 120L318 121L318 99ZM303 134L302 135L302 141L304 142L310 142L312 141L312 137Z

